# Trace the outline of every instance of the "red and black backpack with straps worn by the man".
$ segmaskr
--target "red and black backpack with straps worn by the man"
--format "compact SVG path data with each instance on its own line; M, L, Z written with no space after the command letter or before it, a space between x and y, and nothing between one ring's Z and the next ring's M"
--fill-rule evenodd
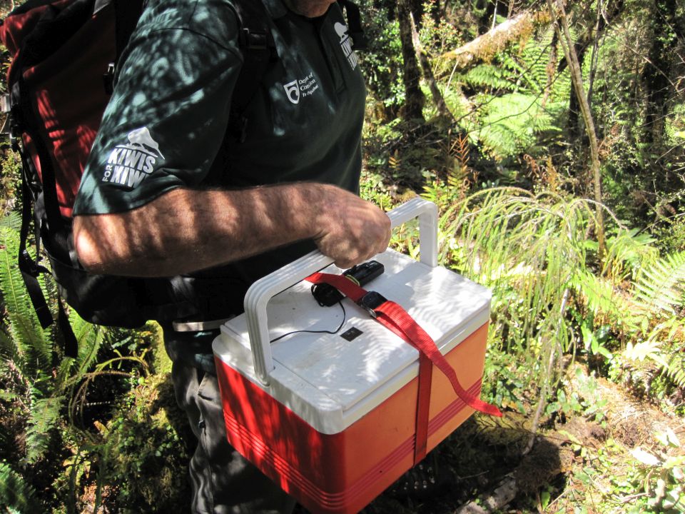
M355 49L363 34L357 6L339 0ZM105 326L135 328L148 320L225 317L235 305L221 301L209 278L130 278L88 273L71 240L71 209L83 168L112 91L116 62L126 47L144 0L28 0L1 21L0 41L13 57L7 74L12 148L22 162L22 226L19 268L39 322L54 322L39 286L51 273L59 291L57 322L66 356L76 356L61 299L81 318ZM250 100L278 59L259 0L236 0L243 68L238 76L227 137L242 141ZM34 222L36 259L26 249ZM39 263L43 243L51 270Z

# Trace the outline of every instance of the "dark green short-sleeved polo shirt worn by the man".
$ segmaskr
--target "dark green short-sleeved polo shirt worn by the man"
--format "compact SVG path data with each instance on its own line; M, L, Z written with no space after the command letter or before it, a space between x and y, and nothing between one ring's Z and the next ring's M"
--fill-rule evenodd
M245 112L245 141L225 143L243 62L232 3L148 2L119 61L75 215L125 212L178 187L317 181L357 191L366 93L338 5L310 20L263 0L279 59ZM309 248L203 275L249 285Z

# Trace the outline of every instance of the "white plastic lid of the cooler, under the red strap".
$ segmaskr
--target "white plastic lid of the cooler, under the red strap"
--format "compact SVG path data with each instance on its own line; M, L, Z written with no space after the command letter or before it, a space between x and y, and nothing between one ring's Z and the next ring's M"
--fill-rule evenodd
M385 266L385 273L365 289L377 291L404 307L443 354L488 321L491 296L486 288L395 251L386 251L375 259ZM324 272L341 271L329 266ZM268 304L271 340L292 333L272 343L276 366L272 378L277 384L270 393L315 428L330 433L330 427L325 427L330 425L330 419L319 420L313 413L317 403L322 412L340 410L345 425L353 423L417 376L418 352L349 299L342 301L342 307L321 307L310 289L310 283L300 282L274 296ZM228 344L222 347L220 341ZM223 354L229 347L235 353L236 343L250 348L244 315L222 326L215 353L226 360ZM240 360L233 359L231 365L258 383L251 362L241 365ZM412 365L415 370L398 380ZM295 386L297 390L293 390ZM308 405L306 412L298 412L303 410L298 407L303 401Z

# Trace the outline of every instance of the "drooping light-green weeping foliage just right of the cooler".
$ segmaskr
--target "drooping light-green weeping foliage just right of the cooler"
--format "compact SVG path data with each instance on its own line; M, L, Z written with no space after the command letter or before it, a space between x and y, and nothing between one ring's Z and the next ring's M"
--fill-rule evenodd
M566 326L561 308L572 270L586 262L587 203L501 188L477 193L458 208L445 232L455 233L467 251L453 265L492 288L507 346L528 348L537 358L536 347L552 338L568 350L571 333L558 328Z

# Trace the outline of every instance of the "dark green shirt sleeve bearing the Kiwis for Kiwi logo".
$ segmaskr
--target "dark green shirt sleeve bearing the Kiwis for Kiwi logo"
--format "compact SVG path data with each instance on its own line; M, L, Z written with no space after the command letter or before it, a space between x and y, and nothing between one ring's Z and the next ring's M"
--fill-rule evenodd
M73 213L120 213L200 186L223 141L242 55L226 0L151 1L121 56Z

